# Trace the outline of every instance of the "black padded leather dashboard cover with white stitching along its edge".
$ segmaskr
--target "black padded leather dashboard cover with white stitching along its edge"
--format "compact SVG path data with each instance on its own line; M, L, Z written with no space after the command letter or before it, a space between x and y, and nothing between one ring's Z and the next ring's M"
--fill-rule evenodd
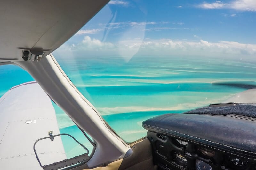
M148 131L256 160L256 121L236 115L164 114L142 122Z

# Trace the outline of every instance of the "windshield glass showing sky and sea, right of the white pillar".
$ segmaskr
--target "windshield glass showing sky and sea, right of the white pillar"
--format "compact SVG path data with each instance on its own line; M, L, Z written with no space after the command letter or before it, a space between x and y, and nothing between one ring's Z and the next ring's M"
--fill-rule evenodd
M143 120L255 88L255 17L255 1L111 0L53 55L132 142Z

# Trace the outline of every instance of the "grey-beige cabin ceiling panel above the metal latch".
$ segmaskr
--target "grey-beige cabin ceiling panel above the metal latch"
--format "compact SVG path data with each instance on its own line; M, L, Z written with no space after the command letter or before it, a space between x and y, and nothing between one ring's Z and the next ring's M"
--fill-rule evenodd
M23 60L22 49L50 54L109 0L4 0L0 5L0 63Z

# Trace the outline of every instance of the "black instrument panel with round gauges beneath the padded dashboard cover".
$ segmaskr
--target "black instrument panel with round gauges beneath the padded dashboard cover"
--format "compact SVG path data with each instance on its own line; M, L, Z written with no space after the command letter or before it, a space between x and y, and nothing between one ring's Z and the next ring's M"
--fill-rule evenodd
M206 145L149 132L154 164L159 170L256 170L256 162Z

